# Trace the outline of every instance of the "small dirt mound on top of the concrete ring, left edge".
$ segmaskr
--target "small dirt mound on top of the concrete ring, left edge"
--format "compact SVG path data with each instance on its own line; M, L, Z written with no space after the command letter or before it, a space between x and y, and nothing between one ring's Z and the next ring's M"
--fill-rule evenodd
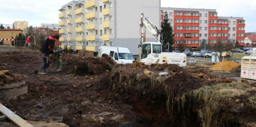
M22 81L22 78L20 75L14 76L12 72L9 70L0 71L0 86L16 83L19 81Z

